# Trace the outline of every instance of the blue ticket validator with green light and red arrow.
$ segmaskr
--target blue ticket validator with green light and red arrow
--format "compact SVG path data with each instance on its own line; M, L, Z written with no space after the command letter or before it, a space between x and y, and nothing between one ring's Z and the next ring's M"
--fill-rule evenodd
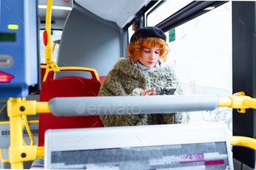
M37 1L0 0L0 98L37 84Z

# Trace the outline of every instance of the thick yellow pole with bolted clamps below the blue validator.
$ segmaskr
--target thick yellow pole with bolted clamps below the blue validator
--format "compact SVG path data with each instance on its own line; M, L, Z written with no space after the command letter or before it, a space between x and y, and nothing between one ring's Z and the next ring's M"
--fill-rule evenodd
M10 117L9 162L11 169L23 169L24 161L44 157L44 147L23 146L22 115L36 115L37 112L50 112L48 102L37 103L37 101L25 101L21 98L9 98L7 101L7 114ZM26 126L29 128L28 125Z

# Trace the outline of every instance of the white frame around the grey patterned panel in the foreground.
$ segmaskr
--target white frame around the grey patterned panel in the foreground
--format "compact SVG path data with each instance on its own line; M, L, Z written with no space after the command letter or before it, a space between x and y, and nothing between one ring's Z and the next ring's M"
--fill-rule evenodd
M177 147L179 148L179 144L206 142L226 142L228 164L230 169L233 169L230 140L224 123L205 123L200 125L135 125L127 127L48 130L45 132L45 168L50 169L53 166L50 163L51 152L55 151L68 150L67 152L69 152L69 150L159 145L173 145L173 149L175 149ZM208 158L211 157L209 154L206 155L208 155ZM222 158L223 155L217 155L217 157L215 155L215 158L218 157Z

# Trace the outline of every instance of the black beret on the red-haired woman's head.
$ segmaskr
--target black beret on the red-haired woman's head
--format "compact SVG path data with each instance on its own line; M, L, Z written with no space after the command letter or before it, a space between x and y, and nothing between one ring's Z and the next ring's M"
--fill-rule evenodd
M130 42L136 42L140 38L145 39L148 37L157 37L157 38L165 40L165 42L166 42L165 33L162 31L162 29L154 27L154 26L139 28L135 32L135 34L132 35Z

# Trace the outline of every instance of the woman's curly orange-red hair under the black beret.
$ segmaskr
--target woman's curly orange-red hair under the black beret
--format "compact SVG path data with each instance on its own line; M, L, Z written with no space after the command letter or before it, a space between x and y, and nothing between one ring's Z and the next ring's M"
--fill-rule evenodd
M162 58L162 60L165 62L167 60L169 46L163 39L156 37L148 37L145 39L140 38L135 42L130 42L126 50L127 56L132 61L138 61L138 59L140 58L141 50L143 50L145 47L154 48L157 45L159 45L159 47L161 48L161 50L159 51L159 58Z

